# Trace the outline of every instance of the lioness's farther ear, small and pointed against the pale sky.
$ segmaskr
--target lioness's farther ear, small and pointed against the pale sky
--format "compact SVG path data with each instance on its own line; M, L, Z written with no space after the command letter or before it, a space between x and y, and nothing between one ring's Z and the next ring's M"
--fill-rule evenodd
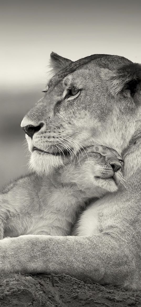
M50 54L50 68L53 68L54 73L60 72L71 63L71 60L59 56L57 53L51 52Z

